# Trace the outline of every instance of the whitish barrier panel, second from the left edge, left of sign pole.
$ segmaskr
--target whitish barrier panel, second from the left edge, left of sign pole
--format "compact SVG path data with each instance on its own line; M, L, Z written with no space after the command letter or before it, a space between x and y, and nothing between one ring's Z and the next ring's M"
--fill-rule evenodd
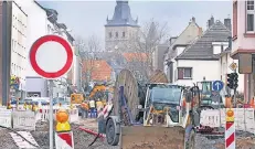
M33 111L13 111L13 128L35 130L36 117Z

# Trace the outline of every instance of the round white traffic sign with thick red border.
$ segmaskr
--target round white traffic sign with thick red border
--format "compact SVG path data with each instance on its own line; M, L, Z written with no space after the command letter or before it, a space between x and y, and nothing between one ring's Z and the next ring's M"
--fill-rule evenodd
M53 79L67 73L73 64L70 43L59 35L38 39L30 50L32 68L42 77Z

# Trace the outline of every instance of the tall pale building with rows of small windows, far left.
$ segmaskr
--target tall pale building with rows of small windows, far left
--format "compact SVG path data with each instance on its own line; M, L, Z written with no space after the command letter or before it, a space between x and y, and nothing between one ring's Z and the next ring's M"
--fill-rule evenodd
M24 97L25 72L28 66L28 14L12 1L11 30L11 76L17 82L11 84L11 93L15 98Z

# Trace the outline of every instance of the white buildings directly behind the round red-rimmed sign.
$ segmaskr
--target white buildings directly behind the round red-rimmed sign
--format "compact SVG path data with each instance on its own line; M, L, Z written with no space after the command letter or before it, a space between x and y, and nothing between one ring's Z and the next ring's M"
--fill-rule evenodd
M28 14L28 29L29 30L28 30L26 49L30 50L32 44L39 38L46 35L46 34L60 35L66 41L68 41L71 46L74 46L73 45L74 39L67 32L66 25L64 23L56 22L59 13L55 10L43 8L36 1L25 1L25 2L18 1L18 2L19 4L21 4L21 8ZM74 60L76 60L76 56L74 56ZM47 85L45 86L44 84L45 78L39 77L39 75L31 67L29 61L28 61L28 64L29 64L26 67L28 68L26 78L29 79L26 81L28 95L30 94L32 95L33 93L41 93L42 96L49 96L49 82L47 82ZM73 64L73 67L74 67L74 64ZM34 84L30 83L32 81L34 81ZM34 86L39 86L39 87L34 87ZM59 79L55 79L54 86L55 87L53 88L53 97L66 96L67 93L70 93L68 89L72 88L71 83L67 81L67 74L64 75L63 77L60 77ZM40 89L35 91L36 88L40 88Z

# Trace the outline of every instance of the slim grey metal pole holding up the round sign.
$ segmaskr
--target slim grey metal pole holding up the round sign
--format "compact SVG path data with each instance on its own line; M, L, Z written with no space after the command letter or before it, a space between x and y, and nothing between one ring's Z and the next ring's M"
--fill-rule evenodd
M50 149L53 149L53 79L50 79Z

